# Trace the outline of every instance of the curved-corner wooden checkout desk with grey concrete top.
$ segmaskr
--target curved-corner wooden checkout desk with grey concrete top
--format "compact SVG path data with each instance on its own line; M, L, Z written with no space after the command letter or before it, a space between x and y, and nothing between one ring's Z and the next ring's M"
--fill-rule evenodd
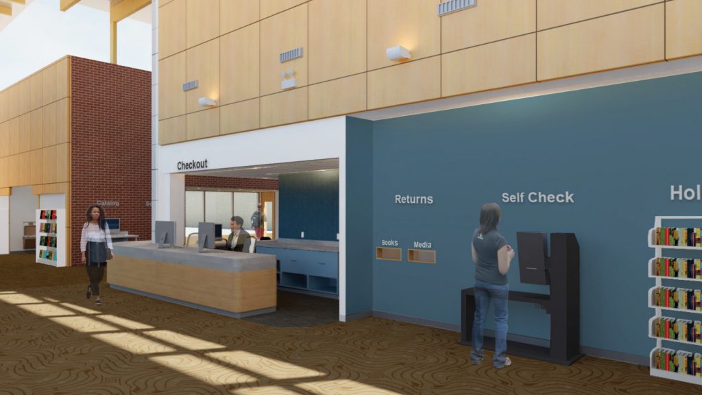
M159 248L115 242L110 287L234 318L275 311L276 258L267 254Z

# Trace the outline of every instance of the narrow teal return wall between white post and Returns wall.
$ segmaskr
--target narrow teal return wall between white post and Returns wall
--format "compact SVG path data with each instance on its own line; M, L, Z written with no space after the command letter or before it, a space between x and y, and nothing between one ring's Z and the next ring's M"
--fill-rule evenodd
M373 122L346 118L346 314L373 308Z

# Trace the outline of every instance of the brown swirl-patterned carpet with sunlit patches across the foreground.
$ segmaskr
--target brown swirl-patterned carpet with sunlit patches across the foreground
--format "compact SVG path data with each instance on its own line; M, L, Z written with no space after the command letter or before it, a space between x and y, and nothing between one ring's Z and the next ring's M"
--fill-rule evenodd
M109 273L109 268L108 268ZM108 274L109 276L109 274ZM380 318L279 328L111 290L84 268L0 256L0 394L698 394L586 356L472 366L456 332ZM486 359L491 355L486 353Z

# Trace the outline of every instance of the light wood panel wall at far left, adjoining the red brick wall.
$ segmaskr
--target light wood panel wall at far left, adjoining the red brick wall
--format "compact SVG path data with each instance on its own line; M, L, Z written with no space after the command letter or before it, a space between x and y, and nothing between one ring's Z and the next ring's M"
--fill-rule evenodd
M32 186L34 195L65 193L71 201L70 60L0 91L0 191L7 195L12 187Z

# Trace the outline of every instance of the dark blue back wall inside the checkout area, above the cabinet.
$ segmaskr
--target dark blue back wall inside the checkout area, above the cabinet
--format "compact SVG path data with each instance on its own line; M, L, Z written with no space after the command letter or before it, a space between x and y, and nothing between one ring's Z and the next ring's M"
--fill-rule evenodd
M336 241L339 233L339 171L281 174L279 178L281 238Z

